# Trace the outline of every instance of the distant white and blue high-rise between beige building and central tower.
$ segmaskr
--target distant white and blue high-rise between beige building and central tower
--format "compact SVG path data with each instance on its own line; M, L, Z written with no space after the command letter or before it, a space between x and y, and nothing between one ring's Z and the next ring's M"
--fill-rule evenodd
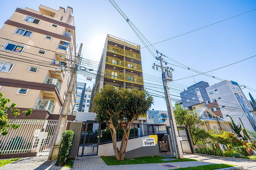
M92 94L91 87L86 87L86 83L77 82L76 89L77 95L73 115L76 115L76 112L89 112L89 104Z

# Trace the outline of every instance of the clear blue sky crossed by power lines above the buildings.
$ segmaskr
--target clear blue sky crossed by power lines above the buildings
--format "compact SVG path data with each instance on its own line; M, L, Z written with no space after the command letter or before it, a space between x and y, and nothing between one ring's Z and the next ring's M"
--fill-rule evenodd
M150 43L172 38L256 8L256 1L253 0L116 0L116 3ZM11 4L7 1L3 1L1 4L3 7L0 11L2 16L0 18L1 26L4 25L4 22L14 13L17 7L22 9L29 7L35 10L38 10L40 4L57 10L59 6L65 8L67 6L72 7L76 26L76 42L77 44L83 43L83 58L89 60L99 61L107 34L141 44L141 47L143 47L141 41L134 34L127 22L108 0L27 0L22 3L14 0ZM255 18L256 10L184 36L156 44L154 47L177 62L206 72L256 55ZM161 80L157 78L161 77L161 73L154 71L151 66L155 62L153 56L150 55L146 48L141 49L141 56L143 72L152 75L151 78L149 75L147 75L149 76L147 78L144 77L144 82L154 84L152 86L162 85ZM183 68L172 66L171 64L174 62L169 63L168 66L173 67L175 70L173 72L174 80L197 74ZM256 57L210 72L209 74L222 79L233 80L241 85L256 89L255 63ZM84 79L81 75L78 75L78 78ZM204 75L198 75L194 78L196 82L206 81L209 85L220 82L220 80ZM80 79L79 81L85 82L87 86L92 87L95 79L91 82ZM176 83L171 83L171 86L177 90L171 89L170 93L171 95L179 96L181 92L179 90L193 85L194 79L191 77L178 80ZM147 88L153 89L153 87ZM159 90L159 92L149 91L163 95L160 93L162 92L160 89L155 90ZM256 92L249 91L246 88L243 89L243 92L248 99L250 99L248 92L256 98ZM179 98L176 96L171 97ZM166 110L166 104L163 98L155 97L154 99L155 103L152 108Z

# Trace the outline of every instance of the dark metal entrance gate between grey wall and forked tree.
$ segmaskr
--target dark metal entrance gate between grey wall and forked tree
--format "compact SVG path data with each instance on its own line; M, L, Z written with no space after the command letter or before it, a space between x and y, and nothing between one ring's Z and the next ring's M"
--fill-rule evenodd
M77 156L98 154L99 123L83 123Z

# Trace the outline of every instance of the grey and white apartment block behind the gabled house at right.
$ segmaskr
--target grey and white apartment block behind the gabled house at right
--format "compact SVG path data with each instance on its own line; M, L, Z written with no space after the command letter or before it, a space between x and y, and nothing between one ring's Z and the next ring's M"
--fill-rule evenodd
M188 87L180 96L185 109L196 109L196 105L200 105L219 118L230 121L231 116L236 124L241 123L241 118L246 129L256 130L255 114L237 82L224 80L209 86L201 81Z

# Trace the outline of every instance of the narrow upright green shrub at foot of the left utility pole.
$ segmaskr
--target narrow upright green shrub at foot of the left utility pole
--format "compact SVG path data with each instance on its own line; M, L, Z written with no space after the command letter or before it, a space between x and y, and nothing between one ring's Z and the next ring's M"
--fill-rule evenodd
M66 130L62 133L62 138L59 143L59 153L58 153L58 163L59 166L66 162L67 157L70 153L72 141L74 139L75 133L72 130Z

